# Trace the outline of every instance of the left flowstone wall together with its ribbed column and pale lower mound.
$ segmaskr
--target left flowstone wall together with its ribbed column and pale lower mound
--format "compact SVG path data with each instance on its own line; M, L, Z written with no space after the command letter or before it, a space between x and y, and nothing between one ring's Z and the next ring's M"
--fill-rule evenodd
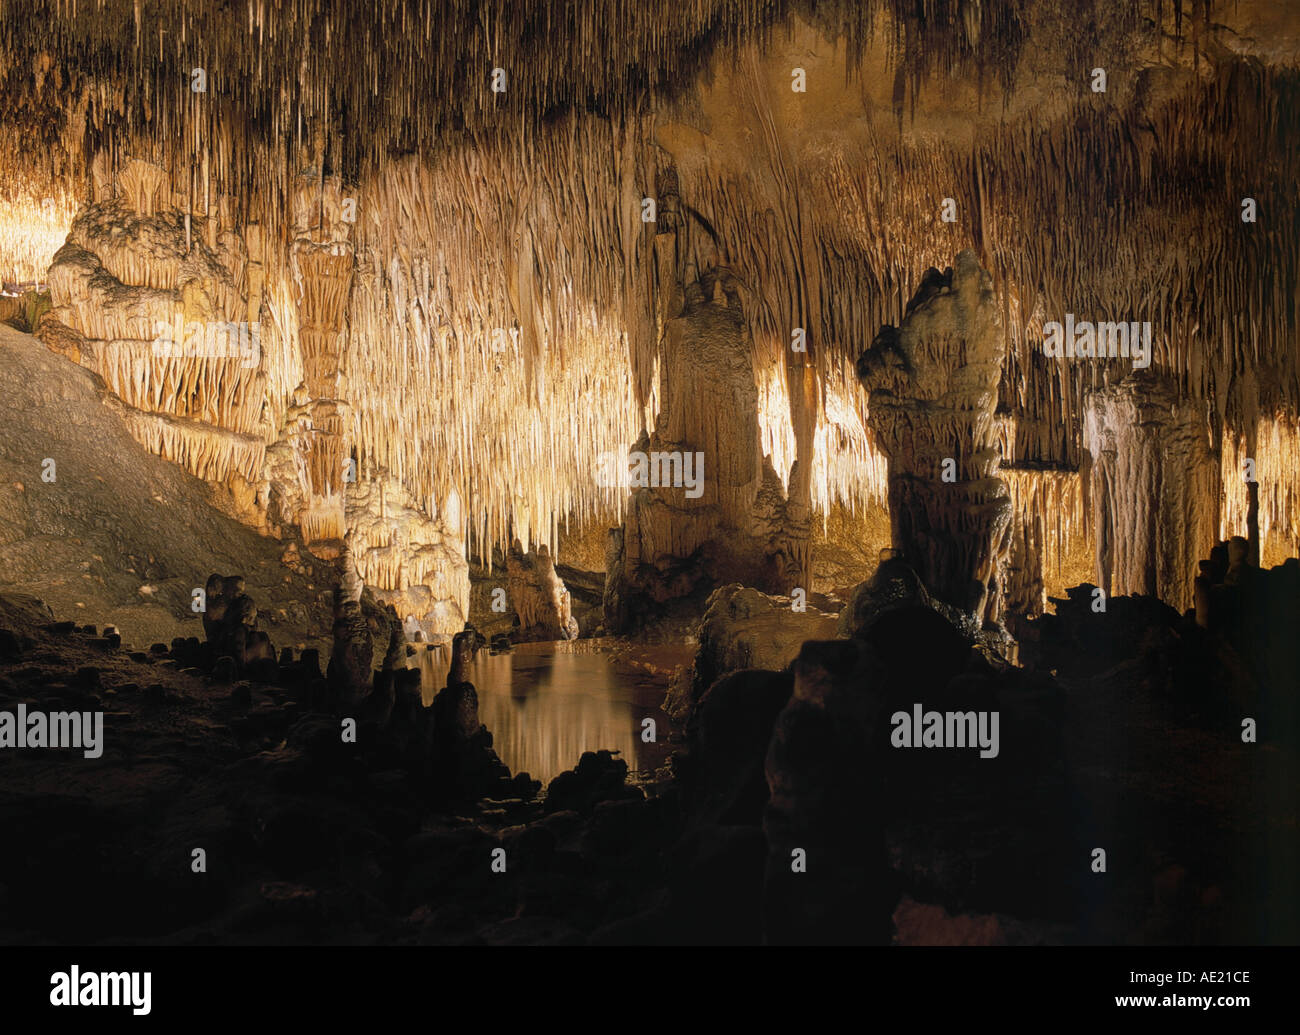
M350 443L343 186L298 179L274 298L261 228L234 226L229 204L192 215L143 161L116 181L100 169L96 196L51 269L47 346L103 377L131 434L220 489L246 524L277 537L296 527L322 558L347 538L364 584L411 628L459 632L469 596L459 497L421 504Z

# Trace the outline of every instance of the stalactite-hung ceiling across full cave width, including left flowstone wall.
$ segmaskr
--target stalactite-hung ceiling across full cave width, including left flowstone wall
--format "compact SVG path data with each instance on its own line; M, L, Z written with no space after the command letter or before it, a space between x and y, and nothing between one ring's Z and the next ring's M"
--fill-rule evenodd
M354 452L363 480L399 485L430 519L455 512L455 537L478 550L554 545L562 519L618 521L625 495L595 471L655 429L676 290L660 263L676 257L737 285L781 490L823 515L879 506L885 467L853 360L902 320L919 270L972 247L1004 307L998 403L1014 419L994 437L1008 464L1087 465L1087 399L1130 373L1048 361L1043 324L1149 320L1153 365L1222 428L1222 534L1244 525L1239 468L1253 451L1264 549L1296 542L1300 75L1226 56L1197 74L1226 7L1183 20L1182 5L1087 3L1115 68L1195 30L1161 65L1178 88L1117 85L1102 104L1054 85L1041 113L954 139L914 131L923 90L967 77L991 105L1001 83L1005 101L1031 30L1035 60L1074 82L1087 34L1031 0L699 0L671 18L593 0L563 26L550 7L480 16L468 0L250 0L247 17L179 0L27 7L0 26L0 278L40 280L70 228L49 281L55 319L87 339L78 355L160 419L265 445L287 421L312 537L347 525ZM857 105L828 143L780 105L772 29L794 14ZM897 73L889 109L862 99L881 73ZM742 133L724 134L706 79ZM640 204L664 209L670 191L692 211L662 233ZM1240 220L1247 195L1258 224ZM937 216L945 196L956 224ZM178 315L182 328L260 321L260 364L148 355ZM797 355L796 328L809 335ZM250 455L190 463L246 471Z

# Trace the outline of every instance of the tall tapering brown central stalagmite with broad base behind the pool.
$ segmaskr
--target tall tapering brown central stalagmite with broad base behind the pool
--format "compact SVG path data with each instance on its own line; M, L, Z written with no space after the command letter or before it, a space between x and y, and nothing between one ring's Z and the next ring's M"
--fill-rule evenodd
M727 583L771 593L811 583L806 478L796 462L788 495L764 456L738 278L681 215L673 176L660 176L659 192L659 413L627 460L633 494L607 562L611 629L675 599L702 606Z

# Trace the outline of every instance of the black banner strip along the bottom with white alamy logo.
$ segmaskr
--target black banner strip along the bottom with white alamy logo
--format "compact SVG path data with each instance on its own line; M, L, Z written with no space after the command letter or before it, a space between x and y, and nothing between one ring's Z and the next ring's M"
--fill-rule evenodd
M1292 1000L1283 949L681 948L474 950L424 948L25 948L0 971L5 1015L61 1027L117 1023L328 1022L426 1017L499 1023L564 999L582 1023L662 1008L664 1023L706 1005L760 1015L842 1004L881 1017L911 1004L940 1018L1119 1018L1239 1025ZM147 975L147 980L146 980ZM760 976L766 975L766 976ZM758 980L755 980L758 978ZM117 1005L114 1005L114 1002ZM459 1004L459 1005L458 1005ZM659 1004L659 1006L655 1006ZM599 1014L592 1014L599 1005ZM627 1015L627 1014L621 1014ZM1176 1018L1176 1019L1173 1019ZM21 1028L9 1028L21 1030ZM172 1027L172 1030L176 1030Z

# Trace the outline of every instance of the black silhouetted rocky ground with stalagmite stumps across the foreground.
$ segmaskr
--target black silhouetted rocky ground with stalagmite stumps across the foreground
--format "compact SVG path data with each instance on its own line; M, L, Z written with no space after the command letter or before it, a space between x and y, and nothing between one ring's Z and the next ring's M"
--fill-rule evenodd
M105 720L99 758L0 752L0 939L1294 941L1296 566L1221 568L1197 614L1141 597L1096 614L1082 586L1017 668L887 560L848 638L711 675L650 797L607 753L538 796L497 759L456 663L422 707L387 655L361 688L311 651L216 657L217 620L216 648L140 650L3 598L0 711ZM382 609L335 610L335 657L350 622L384 654ZM462 635L458 657L476 645ZM892 746L916 703L997 711L996 757Z

